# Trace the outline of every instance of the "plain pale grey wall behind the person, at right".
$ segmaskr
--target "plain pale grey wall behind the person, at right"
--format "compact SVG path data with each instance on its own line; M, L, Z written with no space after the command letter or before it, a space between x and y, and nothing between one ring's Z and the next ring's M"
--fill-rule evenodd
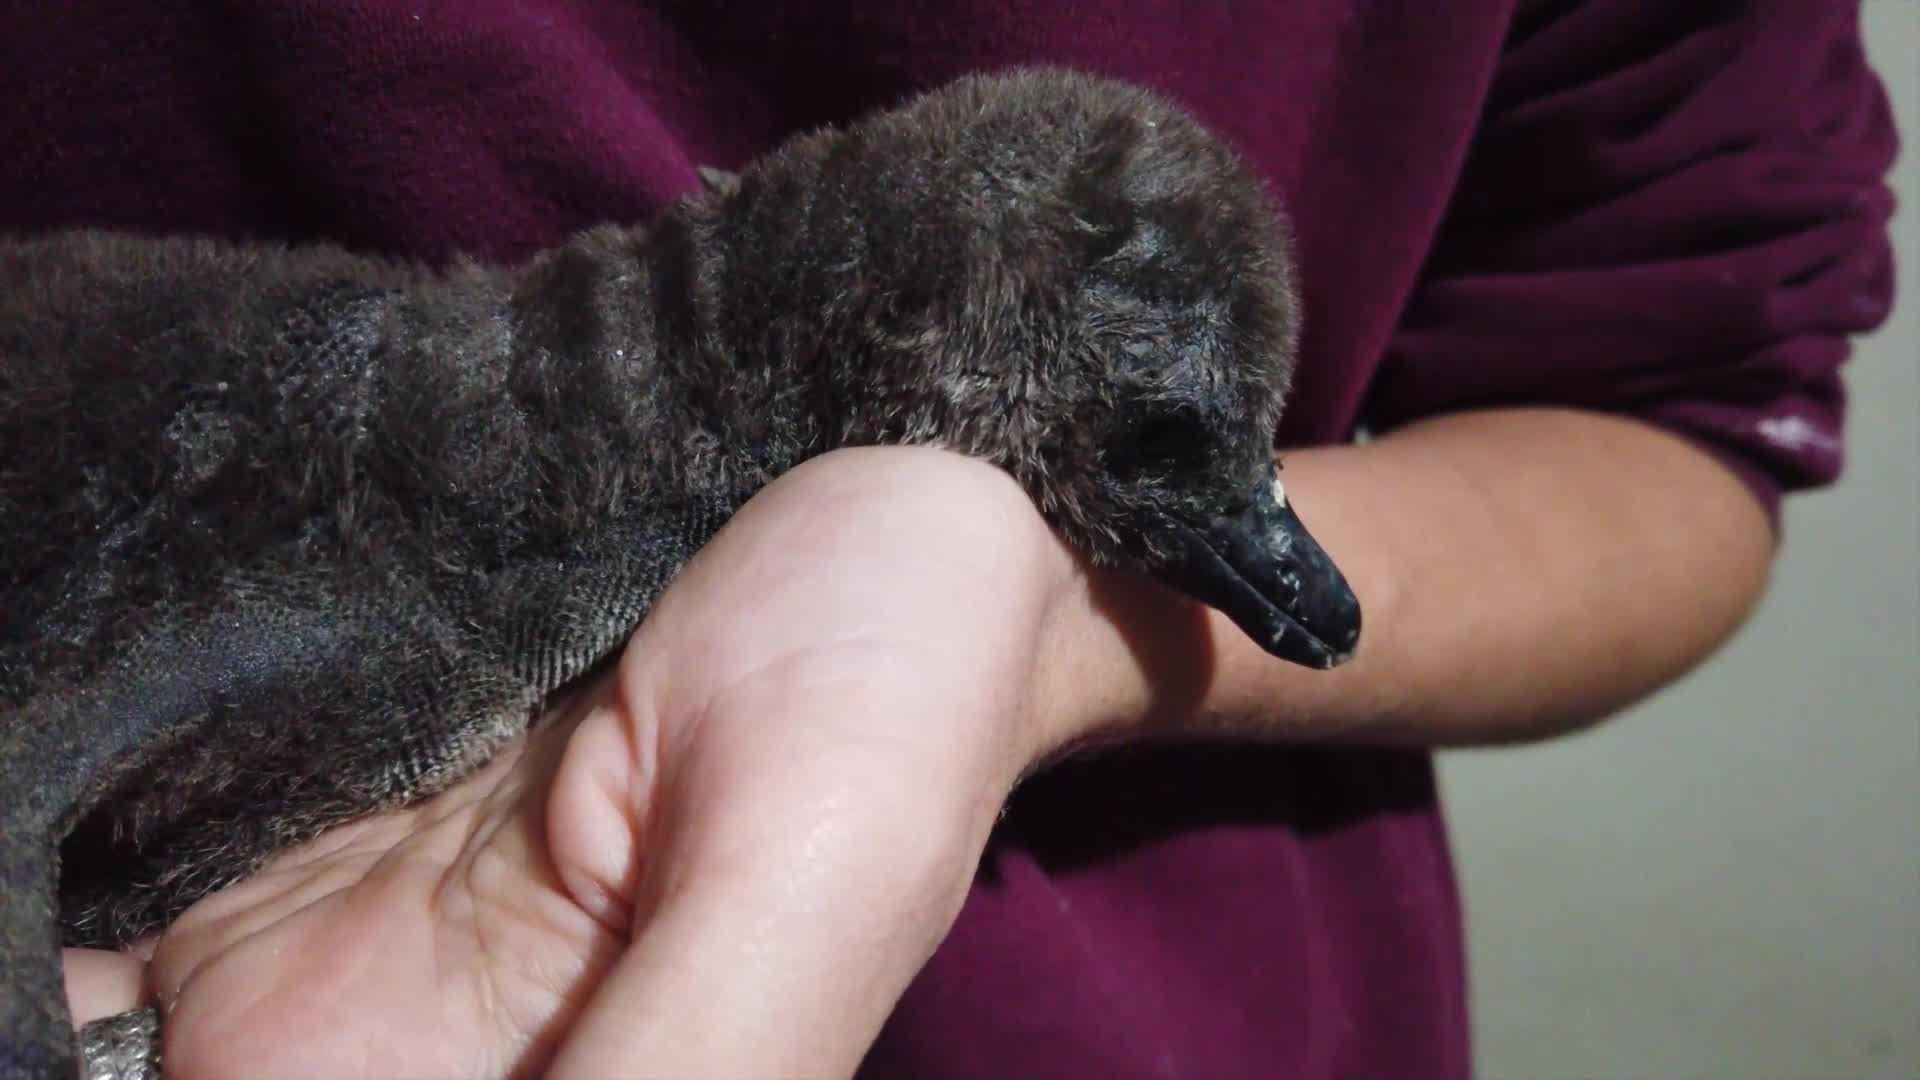
M1488 1078L1920 1076L1920 0L1864 10L1903 288L1847 475L1692 678L1442 761Z

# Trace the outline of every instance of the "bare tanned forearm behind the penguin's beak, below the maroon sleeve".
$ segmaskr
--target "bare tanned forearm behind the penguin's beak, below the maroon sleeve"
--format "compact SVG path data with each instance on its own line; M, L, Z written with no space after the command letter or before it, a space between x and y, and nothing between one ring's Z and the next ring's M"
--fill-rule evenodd
M1144 732L1542 738L1707 657L1772 559L1764 511L1738 477L1615 417L1463 413L1288 454L1284 477L1359 594L1357 657L1286 665L1137 575L1081 575L1044 665L1054 746Z

